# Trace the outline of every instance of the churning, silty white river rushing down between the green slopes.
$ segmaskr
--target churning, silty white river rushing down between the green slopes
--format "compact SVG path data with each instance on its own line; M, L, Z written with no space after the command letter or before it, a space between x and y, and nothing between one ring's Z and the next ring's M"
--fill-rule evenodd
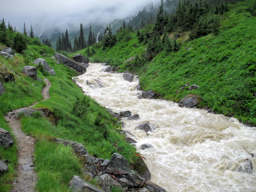
M87 72L74 79L101 106L140 115L139 120L122 118L123 129L135 135L130 137L147 159L152 182L166 191L256 191L256 157L243 149L256 154L256 127L167 100L138 99L138 78L125 81L123 74L102 72L104 68L90 63ZM156 129L148 135L134 130L146 122ZM153 147L140 150L144 143ZM238 172L248 166L246 159L252 162L251 174Z

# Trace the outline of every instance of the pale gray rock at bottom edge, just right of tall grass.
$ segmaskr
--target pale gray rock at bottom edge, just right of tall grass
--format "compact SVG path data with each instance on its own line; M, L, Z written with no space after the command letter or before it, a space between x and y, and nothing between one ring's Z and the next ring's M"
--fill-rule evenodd
M93 186L92 184L85 182L81 177L74 175L68 183L69 188L72 191L93 191L93 192L104 192L102 189Z

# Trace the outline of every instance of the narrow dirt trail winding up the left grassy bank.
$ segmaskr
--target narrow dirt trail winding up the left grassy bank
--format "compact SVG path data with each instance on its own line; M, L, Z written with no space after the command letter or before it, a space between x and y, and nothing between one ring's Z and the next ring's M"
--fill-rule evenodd
M48 79L44 79L46 86L42 90L42 95L45 99L49 99L49 88L51 83ZM13 182L14 188L13 192L16 191L35 191L36 186L36 172L34 171L33 156L35 150L35 140L32 136L26 136L24 132L20 129L21 124L19 119L15 119L15 115L19 113L22 109L33 108L35 104L28 106L27 108L15 109L14 111L8 113L5 116L10 127L12 127L12 132L15 135L18 145L18 167L17 167L17 179Z

